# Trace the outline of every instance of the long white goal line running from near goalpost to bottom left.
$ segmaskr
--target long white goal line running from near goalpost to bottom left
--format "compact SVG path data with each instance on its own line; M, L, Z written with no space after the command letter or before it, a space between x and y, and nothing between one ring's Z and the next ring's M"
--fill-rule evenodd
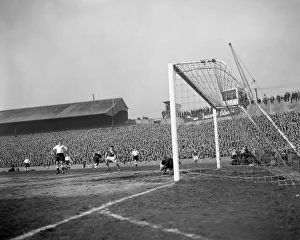
M81 218L81 217L84 217L86 215L89 215L91 213L94 213L94 212L98 212L98 211L101 211L103 209L106 209L107 207L109 206L112 206L114 204L117 204L117 203L120 203L120 202L123 202L123 201L126 201L128 199L131 199L131 198L134 198L134 197L138 197L138 196L141 196L141 195L144 195L144 194L147 194L147 193L150 193L150 192L153 192L155 190L158 190L158 189L161 189L161 188L165 188L165 187L169 187L169 186L172 186L174 183L170 183L168 185L163 185L163 186L159 186L159 187L156 187L156 188L152 188L148 191L145 191L145 192L141 192L141 193L137 193L137 194L133 194L131 196L128 196L128 197L124 197L124 198L121 198L121 199L118 199L118 200L115 200L115 201L112 201L112 202L108 202L108 203L105 203L105 204L102 204L100 207L96 207L96 208L92 208L91 210L89 211L86 211L86 212L83 212L83 213L80 213L78 215L75 215L75 216L72 216L72 217L69 217L67 219L64 219L60 222L57 222L57 223L53 223L53 224L50 224L50 225L47 225L47 226L44 226L44 227L40 227L40 228L37 228L35 230L32 230L28 233L24 233L22 235L19 235L17 237L14 237L12 238L12 240L22 240L22 239L25 239L25 238L28 238L28 237L31 237L39 232L42 232L42 231L45 231L47 229L51 229L51 228L55 228L63 223L67 223L71 220L75 220L75 219L78 219L78 218Z

